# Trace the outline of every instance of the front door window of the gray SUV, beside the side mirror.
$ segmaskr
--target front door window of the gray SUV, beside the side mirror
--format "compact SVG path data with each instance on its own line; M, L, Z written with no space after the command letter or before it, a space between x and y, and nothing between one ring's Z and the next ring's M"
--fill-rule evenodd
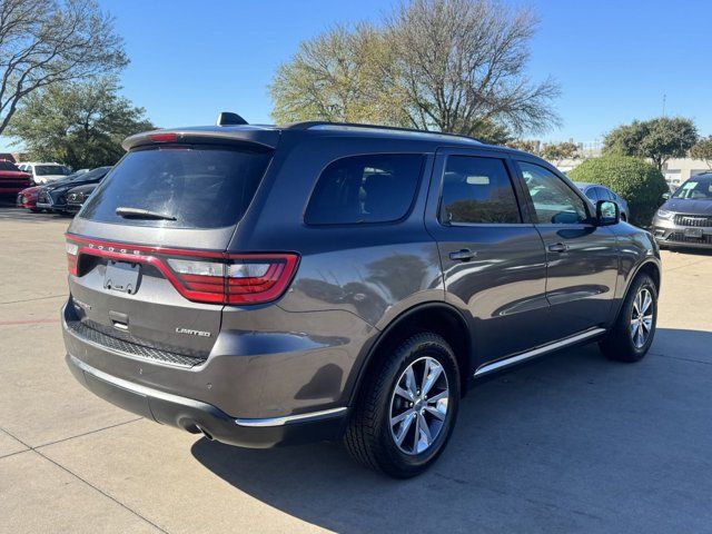
M540 224L576 224L589 219L585 202L552 171L520 161Z

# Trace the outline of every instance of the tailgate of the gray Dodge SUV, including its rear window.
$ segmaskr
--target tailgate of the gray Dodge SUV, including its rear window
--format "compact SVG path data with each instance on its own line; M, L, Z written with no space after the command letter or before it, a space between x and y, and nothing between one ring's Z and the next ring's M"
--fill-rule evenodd
M225 250L270 158L261 148L209 145L130 151L68 233L83 326L207 356L220 327Z

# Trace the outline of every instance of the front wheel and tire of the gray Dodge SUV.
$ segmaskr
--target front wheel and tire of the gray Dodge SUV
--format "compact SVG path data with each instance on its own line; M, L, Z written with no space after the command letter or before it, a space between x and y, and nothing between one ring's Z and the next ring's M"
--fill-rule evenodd
M650 305L645 307L646 297L650 296ZM643 308L641 315L639 309ZM641 319L642 317L642 319ZM637 322L637 326L633 325ZM619 317L611 332L600 343L601 352L610 359L633 363L643 359L655 337L657 323L657 287L653 279L640 274L633 280ZM649 325L647 329L645 325ZM641 337L641 333L643 337Z

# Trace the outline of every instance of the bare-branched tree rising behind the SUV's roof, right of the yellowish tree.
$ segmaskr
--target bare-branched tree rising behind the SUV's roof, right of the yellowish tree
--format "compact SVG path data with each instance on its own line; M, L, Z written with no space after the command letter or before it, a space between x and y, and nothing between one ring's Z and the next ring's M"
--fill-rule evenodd
M556 125L558 86L525 72L536 26L528 9L497 0L402 3L387 21L397 61L389 82L405 91L411 123L466 135L483 121L515 134Z

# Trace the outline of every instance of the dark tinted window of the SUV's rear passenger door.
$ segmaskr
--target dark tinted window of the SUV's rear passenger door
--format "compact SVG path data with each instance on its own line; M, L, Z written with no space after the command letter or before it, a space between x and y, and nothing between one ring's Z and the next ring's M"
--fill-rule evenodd
M443 176L442 222L521 222L504 161L449 156Z

